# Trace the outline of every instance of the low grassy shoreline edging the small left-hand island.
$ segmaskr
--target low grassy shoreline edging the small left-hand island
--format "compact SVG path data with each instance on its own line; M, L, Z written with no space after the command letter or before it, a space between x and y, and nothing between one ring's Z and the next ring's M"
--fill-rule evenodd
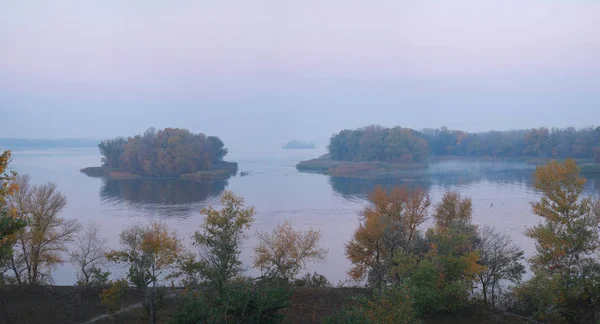
M193 181L212 181L212 180L227 180L237 173L238 166L236 162L223 162L218 167L211 170L199 171L195 173L187 173L174 177L146 177L138 174L120 172L106 167L87 167L79 171L81 173L94 178L109 178L109 179L182 179Z

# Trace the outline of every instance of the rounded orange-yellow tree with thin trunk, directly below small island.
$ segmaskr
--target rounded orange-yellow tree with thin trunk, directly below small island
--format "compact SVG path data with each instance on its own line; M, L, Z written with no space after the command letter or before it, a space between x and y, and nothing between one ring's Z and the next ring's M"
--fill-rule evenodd
M176 232L163 223L135 225L121 232L122 250L111 251L106 255L109 261L129 265L129 281L146 290L146 302L150 322L156 323L156 284L164 278L165 272L175 267L183 252ZM152 286L150 286L152 285Z

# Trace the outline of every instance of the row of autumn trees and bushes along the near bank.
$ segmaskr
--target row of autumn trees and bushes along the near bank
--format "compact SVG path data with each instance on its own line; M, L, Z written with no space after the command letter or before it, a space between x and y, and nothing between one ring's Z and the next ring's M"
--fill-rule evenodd
M319 274L298 278L307 262L324 260L327 250L320 246L322 233L297 231L288 222L259 233L253 266L261 276L244 276L239 256L255 210L232 192L222 195L220 209L201 211L195 251L185 249L181 236L162 223L124 229L120 248L108 251L96 225L82 231L77 221L60 217L66 198L55 185L31 185L27 176L6 171L9 161L5 152L0 160L4 284L51 284L51 270L72 262L77 285L102 287L98 300L108 312L128 305L125 296L135 287L151 323L277 323L289 316L298 287L331 287ZM453 316L468 321L469 310L495 314L503 308L549 323L597 323L600 200L583 196L585 179L574 160L548 162L535 176L542 195L532 212L541 222L526 232L536 244L528 260L508 236L474 224L472 202L459 192L446 192L432 205L424 191L376 188L346 243L348 275L369 289L321 320L427 323ZM428 219L432 225L423 228ZM78 243L68 249L73 241ZM109 282L102 269L107 262L123 264L127 274ZM522 282L526 265L532 278ZM174 282L185 288L174 289L169 284Z

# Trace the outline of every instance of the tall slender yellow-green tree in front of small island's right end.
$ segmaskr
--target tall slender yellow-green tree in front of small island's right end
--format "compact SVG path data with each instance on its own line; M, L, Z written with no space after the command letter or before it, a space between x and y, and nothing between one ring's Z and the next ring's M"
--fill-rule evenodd
M245 207L244 199L231 191L223 192L221 206L221 210L208 207L200 212L205 218L194 235L201 249L201 276L219 289L241 271L244 229L250 228L255 214L254 207Z

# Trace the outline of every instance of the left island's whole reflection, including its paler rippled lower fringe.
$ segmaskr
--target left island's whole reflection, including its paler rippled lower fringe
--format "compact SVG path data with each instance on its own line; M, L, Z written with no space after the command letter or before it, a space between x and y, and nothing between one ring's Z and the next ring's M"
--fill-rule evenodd
M218 197L228 182L180 179L103 179L100 197L105 206L130 216L187 218Z

